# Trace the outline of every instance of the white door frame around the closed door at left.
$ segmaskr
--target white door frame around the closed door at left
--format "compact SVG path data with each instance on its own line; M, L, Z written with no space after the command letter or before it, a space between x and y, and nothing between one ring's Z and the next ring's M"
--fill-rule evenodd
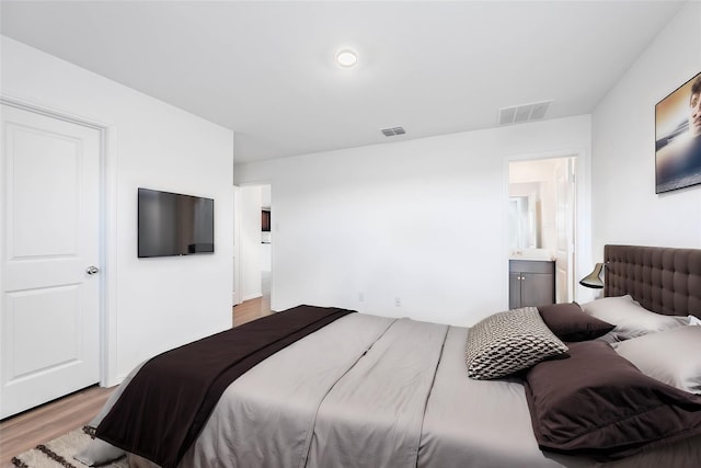
M71 124L95 129L100 134L100 386L111 387L118 383L116 376L117 336L116 336L116 170L114 125L102 123L92 117L83 117L71 112L48 107L8 94L0 95L0 103ZM0 273L1 274L1 273ZM0 281L3 278L0 276Z

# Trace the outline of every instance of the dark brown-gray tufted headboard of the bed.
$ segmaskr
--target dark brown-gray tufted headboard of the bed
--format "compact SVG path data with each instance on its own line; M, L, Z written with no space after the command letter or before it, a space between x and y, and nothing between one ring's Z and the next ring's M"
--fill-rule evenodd
M644 308L701 318L701 250L605 246L605 296L630 294Z

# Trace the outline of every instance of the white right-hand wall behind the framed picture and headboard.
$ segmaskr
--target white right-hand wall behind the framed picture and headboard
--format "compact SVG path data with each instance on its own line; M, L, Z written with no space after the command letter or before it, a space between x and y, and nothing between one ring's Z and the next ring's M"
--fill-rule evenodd
M701 186L655 194L655 104L701 71L688 2L593 114L593 262L606 243L701 247Z

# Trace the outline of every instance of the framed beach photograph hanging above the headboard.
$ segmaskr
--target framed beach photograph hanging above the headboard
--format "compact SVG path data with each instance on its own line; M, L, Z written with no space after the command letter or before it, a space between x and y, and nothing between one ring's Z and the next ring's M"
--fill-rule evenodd
M655 105L655 193L701 184L701 72Z

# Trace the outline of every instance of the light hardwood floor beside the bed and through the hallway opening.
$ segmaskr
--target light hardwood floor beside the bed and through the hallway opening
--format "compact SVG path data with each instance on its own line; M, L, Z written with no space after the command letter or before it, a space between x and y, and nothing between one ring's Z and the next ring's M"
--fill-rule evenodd
M269 313L269 296L246 300L232 309L233 327ZM0 468L13 467L18 454L85 425L115 388L89 387L0 421Z

